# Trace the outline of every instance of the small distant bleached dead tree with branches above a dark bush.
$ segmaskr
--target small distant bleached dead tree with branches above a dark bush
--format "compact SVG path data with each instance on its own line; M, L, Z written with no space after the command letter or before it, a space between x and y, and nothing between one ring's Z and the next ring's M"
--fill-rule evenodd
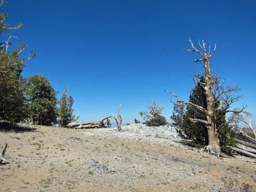
M149 112L139 112L139 115L143 117L144 120L155 119L157 115L160 115L163 112L163 106L156 106L156 101L153 99L150 101L148 106Z

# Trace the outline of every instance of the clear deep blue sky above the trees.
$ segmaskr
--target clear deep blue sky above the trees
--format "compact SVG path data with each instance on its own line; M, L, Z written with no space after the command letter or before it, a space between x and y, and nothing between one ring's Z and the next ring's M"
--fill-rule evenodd
M217 42L211 59L215 74L239 85L256 125L255 1L11 1L8 23L22 22L14 35L36 58L23 76L46 76L61 97L67 84L80 121L96 121L120 109L123 122L141 119L139 111L155 98L170 121L165 89L188 100L197 44Z

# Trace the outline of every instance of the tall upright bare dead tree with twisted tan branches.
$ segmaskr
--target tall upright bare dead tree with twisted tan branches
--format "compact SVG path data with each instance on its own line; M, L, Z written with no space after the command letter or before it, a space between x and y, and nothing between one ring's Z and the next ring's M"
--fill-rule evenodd
M227 86L227 88L224 88L224 80L220 82L218 79L220 76L214 76L211 73L210 70L210 58L215 54L216 51L216 44L214 47L214 51L211 52L211 46L209 46L209 50L207 51L206 44L204 40L202 40L202 44L199 42L199 46L202 48L202 51L199 51L194 45L193 42L188 40L192 46L192 49L186 49L188 52L196 52L200 55L200 59L195 59L194 62L201 62L203 61L204 65L204 72L202 72L201 75L194 75L193 81L195 83L199 83L200 86L202 86L205 90L206 94L206 102L207 107L203 108L201 106L198 106L197 104L194 104L192 102L185 102L180 101L179 97L176 96L172 91L167 91L170 94L172 94L176 101L174 104L177 105L190 105L201 112L203 112L206 115L206 120L202 119L190 119L192 122L201 122L205 123L208 131L208 146L206 147L206 151L209 151L210 153L215 154L215 156L220 157L220 141L218 140L218 129L217 129L217 119L216 119L216 112L217 110L224 110L226 113L233 112L233 113L243 113L245 112L243 107L242 109L233 109L231 110L231 106L234 102L239 100L241 96L233 96L230 94L230 92L238 91L240 90L237 86ZM205 83L200 82L199 77L200 76L205 77ZM217 107L220 106L220 107Z

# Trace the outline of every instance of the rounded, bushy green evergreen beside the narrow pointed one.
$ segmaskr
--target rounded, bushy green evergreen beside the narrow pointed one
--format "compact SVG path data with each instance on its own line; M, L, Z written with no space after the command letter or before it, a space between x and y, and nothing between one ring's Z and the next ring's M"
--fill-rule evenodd
M34 75L27 79L26 106L29 121L33 124L51 126L57 123L58 92L54 91L48 79L44 76Z

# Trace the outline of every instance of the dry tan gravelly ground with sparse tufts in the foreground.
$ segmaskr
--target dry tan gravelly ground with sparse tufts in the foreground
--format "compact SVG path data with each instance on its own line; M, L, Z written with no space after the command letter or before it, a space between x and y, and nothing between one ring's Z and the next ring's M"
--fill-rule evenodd
M3 130L0 191L256 191L256 162L245 157L82 134L92 129Z

